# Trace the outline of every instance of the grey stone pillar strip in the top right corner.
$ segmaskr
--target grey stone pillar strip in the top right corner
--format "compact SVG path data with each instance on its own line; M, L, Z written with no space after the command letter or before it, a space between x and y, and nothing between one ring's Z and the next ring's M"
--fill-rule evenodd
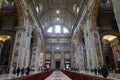
M113 3L113 10L115 13L116 21L118 24L118 29L120 32L120 8L119 8L120 7L120 0L112 0L112 3Z

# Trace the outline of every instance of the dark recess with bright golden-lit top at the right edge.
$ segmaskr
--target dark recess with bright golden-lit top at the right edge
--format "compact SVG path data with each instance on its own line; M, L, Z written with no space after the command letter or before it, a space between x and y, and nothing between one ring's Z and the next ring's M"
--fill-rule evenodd
M115 31L106 31L100 34L105 63L109 70L119 72L120 68L120 35ZM111 37L110 38L107 38ZM113 37L113 39L112 39Z

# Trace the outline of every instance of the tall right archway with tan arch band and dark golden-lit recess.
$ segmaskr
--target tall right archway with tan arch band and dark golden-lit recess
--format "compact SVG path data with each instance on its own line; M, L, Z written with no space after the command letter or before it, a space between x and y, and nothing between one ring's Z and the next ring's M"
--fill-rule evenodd
M113 41L119 42L120 36L119 36L118 26L116 23L114 12L113 12L113 6L112 6L111 0L95 0L95 4L93 6L93 11L91 14L91 24L93 27L99 27L101 43L102 42L104 43L104 45L102 44L104 62L106 63L107 67L110 70L113 68L117 69L118 67L116 66L116 60L115 60L116 51L114 51L111 45L113 46L116 45L116 44L113 44ZM103 40L104 39L103 37L109 36L109 35L111 37L116 36L116 39L112 39L112 41L109 41L110 37L108 37L109 39ZM107 47L106 50L107 52L109 52L110 56L107 56L105 54L106 50L104 46Z

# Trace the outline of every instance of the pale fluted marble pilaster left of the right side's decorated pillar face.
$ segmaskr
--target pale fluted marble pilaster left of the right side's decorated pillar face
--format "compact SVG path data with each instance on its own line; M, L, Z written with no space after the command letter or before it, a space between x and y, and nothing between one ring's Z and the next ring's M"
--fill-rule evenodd
M88 34L89 33L89 34ZM94 41L92 39L92 33L89 31L89 28L86 26L84 29L84 40L85 40L85 68L91 69L95 68L97 65L96 53L94 52Z

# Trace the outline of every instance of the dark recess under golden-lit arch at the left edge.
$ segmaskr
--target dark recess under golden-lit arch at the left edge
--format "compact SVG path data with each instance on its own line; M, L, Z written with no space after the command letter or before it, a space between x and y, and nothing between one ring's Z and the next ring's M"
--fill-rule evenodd
M10 61L12 57L14 34L9 31L0 31L0 71L6 69L8 73Z

